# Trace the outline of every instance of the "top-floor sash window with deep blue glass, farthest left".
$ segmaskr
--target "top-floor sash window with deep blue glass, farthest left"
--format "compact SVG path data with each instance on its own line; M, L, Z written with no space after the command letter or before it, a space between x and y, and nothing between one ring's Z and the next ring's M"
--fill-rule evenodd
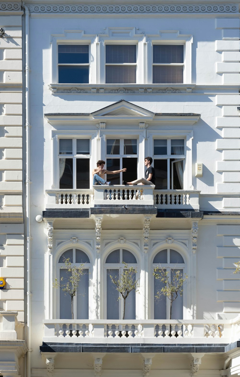
M89 45L58 45L58 83L89 83Z

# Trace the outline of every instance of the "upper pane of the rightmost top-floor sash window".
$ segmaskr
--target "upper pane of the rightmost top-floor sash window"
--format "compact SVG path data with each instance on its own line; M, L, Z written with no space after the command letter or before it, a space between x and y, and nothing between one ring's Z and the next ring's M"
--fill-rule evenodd
M183 45L153 45L153 63L183 63Z

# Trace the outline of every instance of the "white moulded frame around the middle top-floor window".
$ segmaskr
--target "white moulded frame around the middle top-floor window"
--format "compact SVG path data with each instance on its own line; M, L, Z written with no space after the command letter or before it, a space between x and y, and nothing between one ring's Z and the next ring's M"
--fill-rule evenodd
M106 44L136 44L137 45L137 62L125 63L126 65L136 65L136 84L142 84L144 80L144 34L137 34L136 28L106 28L102 35L98 35L99 41L99 83L105 84L105 65L106 65ZM113 65L110 64L109 65ZM120 65L120 64L118 64ZM105 84L117 85L118 83ZM129 84L119 84L129 85Z

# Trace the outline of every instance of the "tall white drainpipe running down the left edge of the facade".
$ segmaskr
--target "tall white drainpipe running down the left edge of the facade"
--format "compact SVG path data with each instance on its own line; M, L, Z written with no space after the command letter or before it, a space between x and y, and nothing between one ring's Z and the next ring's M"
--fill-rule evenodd
M26 38L26 238L27 238L27 377L31 376L31 301L30 301L30 158L29 158L29 9L25 9L25 38Z

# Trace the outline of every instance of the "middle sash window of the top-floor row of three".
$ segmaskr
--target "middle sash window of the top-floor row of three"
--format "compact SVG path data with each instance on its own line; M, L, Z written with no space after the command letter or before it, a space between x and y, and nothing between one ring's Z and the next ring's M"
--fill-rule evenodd
M137 72L135 44L107 44L105 60L106 84L134 84Z

